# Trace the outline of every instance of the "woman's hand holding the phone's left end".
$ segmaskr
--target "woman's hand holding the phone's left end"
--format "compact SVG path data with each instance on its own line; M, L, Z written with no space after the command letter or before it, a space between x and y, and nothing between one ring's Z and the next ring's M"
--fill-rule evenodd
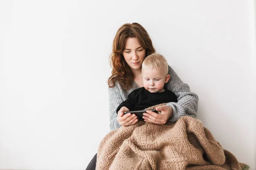
M117 112L117 121L122 126L131 126L134 125L136 122L138 122L137 116L135 114L127 113L125 112L129 111L128 108L123 106L118 112Z

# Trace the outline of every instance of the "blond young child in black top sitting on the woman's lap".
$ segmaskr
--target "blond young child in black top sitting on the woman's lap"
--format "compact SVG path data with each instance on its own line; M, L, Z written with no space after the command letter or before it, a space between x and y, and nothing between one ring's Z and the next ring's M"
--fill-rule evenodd
M129 111L139 111L162 103L177 102L177 96L164 88L170 75L168 74L168 62L162 55L154 53L144 59L142 76L144 87L132 91L128 98L117 107L116 113L124 106ZM142 116L138 116L138 120L143 120Z

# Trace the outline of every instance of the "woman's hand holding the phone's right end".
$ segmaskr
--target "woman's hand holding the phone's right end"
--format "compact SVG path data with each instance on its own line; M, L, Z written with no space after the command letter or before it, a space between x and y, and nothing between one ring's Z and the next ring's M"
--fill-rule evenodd
M154 124L165 124L170 117L172 117L173 110L170 106L158 106L157 111L161 111L161 114L155 113L153 111L147 111L143 113L143 119L145 122L150 122Z

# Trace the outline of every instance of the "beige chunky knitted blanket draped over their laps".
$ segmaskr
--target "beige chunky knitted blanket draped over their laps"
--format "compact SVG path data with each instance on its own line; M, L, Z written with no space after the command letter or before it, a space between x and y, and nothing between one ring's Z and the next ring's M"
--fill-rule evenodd
M137 122L108 133L99 145L96 170L246 170L197 119Z

